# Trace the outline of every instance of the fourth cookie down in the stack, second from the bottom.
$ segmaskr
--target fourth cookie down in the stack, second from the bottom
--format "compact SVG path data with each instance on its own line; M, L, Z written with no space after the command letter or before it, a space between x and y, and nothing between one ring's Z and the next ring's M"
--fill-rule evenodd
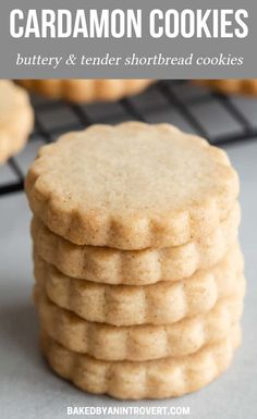
M88 322L64 310L35 288L40 324L47 334L70 350L105 360L142 361L193 354L224 338L243 310L245 280L235 278L235 291L205 316L169 325L113 326Z

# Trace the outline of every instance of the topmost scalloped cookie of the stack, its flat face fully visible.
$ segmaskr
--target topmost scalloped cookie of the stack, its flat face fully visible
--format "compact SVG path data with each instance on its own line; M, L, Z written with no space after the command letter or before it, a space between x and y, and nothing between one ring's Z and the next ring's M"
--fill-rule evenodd
M238 194L225 153L172 125L95 125L45 146L30 167L33 212L78 245L178 246L213 231Z

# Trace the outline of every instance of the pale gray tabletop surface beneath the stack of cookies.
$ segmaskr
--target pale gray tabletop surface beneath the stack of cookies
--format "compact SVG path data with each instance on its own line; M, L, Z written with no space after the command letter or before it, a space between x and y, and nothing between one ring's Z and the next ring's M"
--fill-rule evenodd
M242 184L242 246L248 280L243 318L244 342L233 367L198 393L146 406L189 406L192 419L257 417L257 140L228 146ZM54 377L37 346L37 320L30 303L33 284L24 194L0 198L0 417L1 419L65 418L66 406L118 406L135 403L86 395ZM103 417L103 416L102 416ZM136 417L136 416L135 416Z

